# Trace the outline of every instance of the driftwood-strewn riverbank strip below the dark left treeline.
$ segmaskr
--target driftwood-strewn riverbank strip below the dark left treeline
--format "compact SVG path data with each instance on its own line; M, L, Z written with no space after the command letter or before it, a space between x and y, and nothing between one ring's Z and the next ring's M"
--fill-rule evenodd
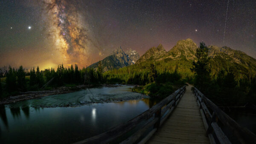
M24 101L24 100L29 100L29 99L34 99L34 98L41 98L49 95L58 95L58 94L64 94L64 93L69 93L69 92L76 92L81 89L90 89L90 88L99 88L99 87L117 87L120 86L118 84L99 84L99 85L79 85L79 86L61 86L58 88L53 88L51 90L42 90L42 91L30 91L30 92L20 92L20 95L16 96L10 96L8 98L3 98L0 101L0 105L5 105L5 104L11 104L15 103L18 101Z

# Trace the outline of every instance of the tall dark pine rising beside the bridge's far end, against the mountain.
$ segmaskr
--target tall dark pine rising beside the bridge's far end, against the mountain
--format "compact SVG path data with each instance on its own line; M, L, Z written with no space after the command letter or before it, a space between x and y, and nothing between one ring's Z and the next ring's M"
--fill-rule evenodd
M201 42L195 54L197 61L193 61L191 69L192 72L195 72L195 87L205 94L207 94L211 82L208 51L205 43Z

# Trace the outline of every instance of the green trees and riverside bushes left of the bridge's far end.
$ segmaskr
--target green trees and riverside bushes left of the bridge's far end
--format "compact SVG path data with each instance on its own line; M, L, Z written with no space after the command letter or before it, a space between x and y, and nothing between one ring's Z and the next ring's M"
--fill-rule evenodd
M169 65L167 69L160 63L145 62L140 66L132 65L118 70L114 69L105 72L103 76L107 83L136 84L139 86L132 89L134 92L165 98L185 84L184 75L177 71L178 65L178 63Z

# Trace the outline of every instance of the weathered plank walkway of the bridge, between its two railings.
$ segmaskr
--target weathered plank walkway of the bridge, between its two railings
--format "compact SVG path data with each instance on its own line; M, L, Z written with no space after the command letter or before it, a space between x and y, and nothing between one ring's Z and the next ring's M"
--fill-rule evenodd
M209 138L205 134L195 95L191 86L186 86L186 92L179 104L149 139L148 144L209 144Z

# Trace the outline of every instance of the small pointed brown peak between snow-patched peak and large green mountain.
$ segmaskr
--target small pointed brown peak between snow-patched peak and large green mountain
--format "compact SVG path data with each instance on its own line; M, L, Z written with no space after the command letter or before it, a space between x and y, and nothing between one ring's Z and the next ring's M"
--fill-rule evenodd
M166 55L166 50L163 48L163 45L160 44L157 47L151 47L148 49L147 52L145 52L144 55L140 57L139 60L137 60L137 63L141 63L146 60L154 60L154 59L159 59L162 58L163 56Z

